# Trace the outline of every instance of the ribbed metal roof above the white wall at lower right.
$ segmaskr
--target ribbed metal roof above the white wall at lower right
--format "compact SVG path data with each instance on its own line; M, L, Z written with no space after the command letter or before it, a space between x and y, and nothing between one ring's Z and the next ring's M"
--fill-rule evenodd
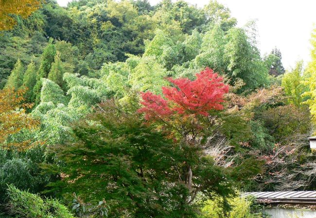
M308 203L316 205L316 191L258 191L246 192L242 197L253 195L264 203Z

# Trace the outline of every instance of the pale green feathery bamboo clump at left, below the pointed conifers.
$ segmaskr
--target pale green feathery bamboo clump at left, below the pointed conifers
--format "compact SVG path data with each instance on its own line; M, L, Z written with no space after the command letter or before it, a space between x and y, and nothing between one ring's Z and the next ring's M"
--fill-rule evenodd
M84 117L107 93L104 83L99 79L70 73L65 73L64 79L70 88L67 92L70 99L56 83L43 78L41 102L32 111L42 122L36 138L44 139L48 144L69 140L71 122Z

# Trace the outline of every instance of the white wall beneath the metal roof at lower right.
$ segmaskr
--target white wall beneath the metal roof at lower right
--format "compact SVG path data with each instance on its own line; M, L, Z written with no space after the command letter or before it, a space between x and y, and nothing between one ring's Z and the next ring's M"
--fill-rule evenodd
M265 211L272 218L316 218L316 211L303 209L269 208Z

